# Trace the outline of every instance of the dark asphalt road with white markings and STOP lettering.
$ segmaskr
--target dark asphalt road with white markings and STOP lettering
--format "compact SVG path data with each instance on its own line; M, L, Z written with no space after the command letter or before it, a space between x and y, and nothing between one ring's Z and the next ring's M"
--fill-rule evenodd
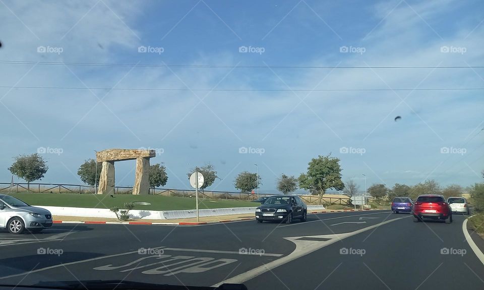
M308 215L292 224L54 224L0 232L0 283L121 279L249 289L484 288L462 222L412 222L390 211ZM446 250L447 249L447 250ZM446 254L448 253L448 254Z

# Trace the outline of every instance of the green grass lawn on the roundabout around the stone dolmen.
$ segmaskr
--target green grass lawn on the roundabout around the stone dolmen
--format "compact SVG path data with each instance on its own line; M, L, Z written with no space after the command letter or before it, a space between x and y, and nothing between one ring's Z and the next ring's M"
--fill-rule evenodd
M168 197L159 195L109 195L101 194L51 194L51 193L13 193L12 196L31 205L46 206L67 206L67 207L89 207L89 208L110 208L119 206L123 208L125 202L143 201L151 205L136 205L135 209L147 210L182 210L195 209L195 198L189 197ZM240 200L225 199L199 199L199 208L224 208L224 207L252 207L259 206L259 203Z

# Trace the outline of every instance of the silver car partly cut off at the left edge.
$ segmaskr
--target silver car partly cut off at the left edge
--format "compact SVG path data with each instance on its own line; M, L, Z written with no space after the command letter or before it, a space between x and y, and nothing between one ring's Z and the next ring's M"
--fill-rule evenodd
M50 211L30 206L13 196L0 194L0 228L7 228L10 233L20 235L25 229L38 233L51 226Z

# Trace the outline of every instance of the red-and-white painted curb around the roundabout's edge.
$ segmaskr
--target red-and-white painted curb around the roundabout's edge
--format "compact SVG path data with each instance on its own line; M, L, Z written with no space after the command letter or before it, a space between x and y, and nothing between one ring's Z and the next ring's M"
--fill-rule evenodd
M333 210L333 211L312 211L309 214L319 214L319 213L333 213L333 212L347 212L347 211L367 211L367 210L385 210L385 209L343 209L343 210ZM149 221L66 221L66 220L53 220L52 223L84 223L84 224L142 224L142 225L201 225L201 224L211 224L211 223L226 223L234 221L245 221L254 220L255 217L241 218L241 219L225 219L225 220L215 220L215 221L201 221L201 222L149 222Z

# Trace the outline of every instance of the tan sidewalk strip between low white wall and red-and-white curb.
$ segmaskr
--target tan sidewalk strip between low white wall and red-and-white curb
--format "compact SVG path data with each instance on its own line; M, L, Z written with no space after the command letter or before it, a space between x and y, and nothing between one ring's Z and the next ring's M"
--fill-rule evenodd
M371 209L326 209L326 210L310 210L308 214L315 213L330 213L330 212L346 212L346 211L368 211ZM252 214L229 214L229 215L217 215L217 216L204 216L200 217L200 222L197 222L197 218L175 218L175 219L133 219L128 221L119 221L116 218L100 218L100 217L80 217L80 216L61 216L53 215L53 223L87 223L87 224L168 224L168 225L196 225L207 224L215 222L229 222L239 220L255 219Z

